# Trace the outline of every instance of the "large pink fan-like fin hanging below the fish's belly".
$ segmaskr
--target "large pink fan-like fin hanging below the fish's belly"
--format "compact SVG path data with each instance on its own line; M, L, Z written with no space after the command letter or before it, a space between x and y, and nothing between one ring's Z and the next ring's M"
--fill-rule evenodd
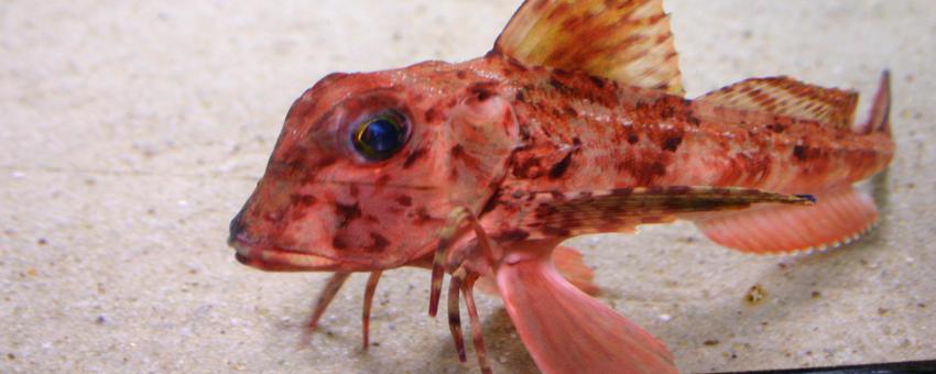
M549 256L504 263L498 288L544 373L676 373L666 346L569 284Z

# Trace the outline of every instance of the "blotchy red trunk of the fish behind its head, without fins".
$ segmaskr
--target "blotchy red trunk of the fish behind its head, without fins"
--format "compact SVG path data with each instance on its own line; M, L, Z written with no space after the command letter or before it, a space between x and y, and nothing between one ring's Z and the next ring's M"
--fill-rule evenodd
M894 143L814 121L744 112L491 56L524 146L504 185L521 190L747 187L816 194L886 167ZM719 121L701 119L716 110Z

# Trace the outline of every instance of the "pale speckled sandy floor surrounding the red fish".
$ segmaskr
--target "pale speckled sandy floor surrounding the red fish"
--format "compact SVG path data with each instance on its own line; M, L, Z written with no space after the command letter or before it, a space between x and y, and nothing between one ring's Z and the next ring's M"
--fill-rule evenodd
M0 3L0 372L476 372L426 317L427 272L387 273L368 352L360 275L300 349L327 275L244 267L225 238L305 88L481 55L519 2ZM891 68L899 151L881 224L831 253L742 255L685 223L574 240L602 300L688 372L936 358L936 2L667 7L689 96L787 74L867 97ZM479 302L494 370L534 372Z

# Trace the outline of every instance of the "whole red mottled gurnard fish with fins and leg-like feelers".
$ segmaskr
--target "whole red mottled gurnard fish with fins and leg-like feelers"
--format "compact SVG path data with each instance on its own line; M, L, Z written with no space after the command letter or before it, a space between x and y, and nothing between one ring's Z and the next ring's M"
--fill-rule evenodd
M688 100L661 0L529 0L483 57L331 74L303 94L229 244L253 267L335 272L309 332L370 272L367 346L381 272L422 266L433 316L450 274L459 358L464 297L485 372L479 279L543 372L675 372L663 343L579 289L591 274L558 244L675 219L749 253L855 239L878 215L852 184L894 153L888 74L852 125L857 100L786 77Z

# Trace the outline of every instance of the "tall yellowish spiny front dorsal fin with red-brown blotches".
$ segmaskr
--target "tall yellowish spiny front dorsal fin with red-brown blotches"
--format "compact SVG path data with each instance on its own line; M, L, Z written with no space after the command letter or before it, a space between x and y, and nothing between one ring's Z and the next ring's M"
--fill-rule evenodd
M526 0L494 51L527 65L684 94L662 0Z

